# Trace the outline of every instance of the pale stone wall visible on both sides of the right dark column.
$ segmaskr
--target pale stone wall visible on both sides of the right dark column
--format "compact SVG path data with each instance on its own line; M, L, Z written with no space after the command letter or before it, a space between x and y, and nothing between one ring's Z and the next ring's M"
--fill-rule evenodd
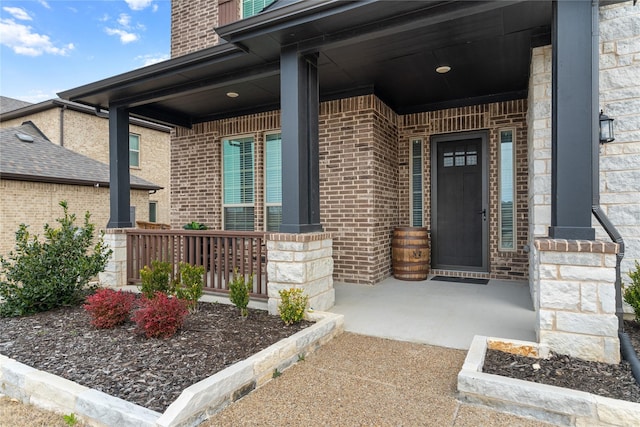
M551 223L551 46L533 49L529 82L529 216L533 237ZM623 280L640 259L640 9L600 8L600 106L616 140L600 146L600 205L625 241ZM608 240L595 218L597 237Z

